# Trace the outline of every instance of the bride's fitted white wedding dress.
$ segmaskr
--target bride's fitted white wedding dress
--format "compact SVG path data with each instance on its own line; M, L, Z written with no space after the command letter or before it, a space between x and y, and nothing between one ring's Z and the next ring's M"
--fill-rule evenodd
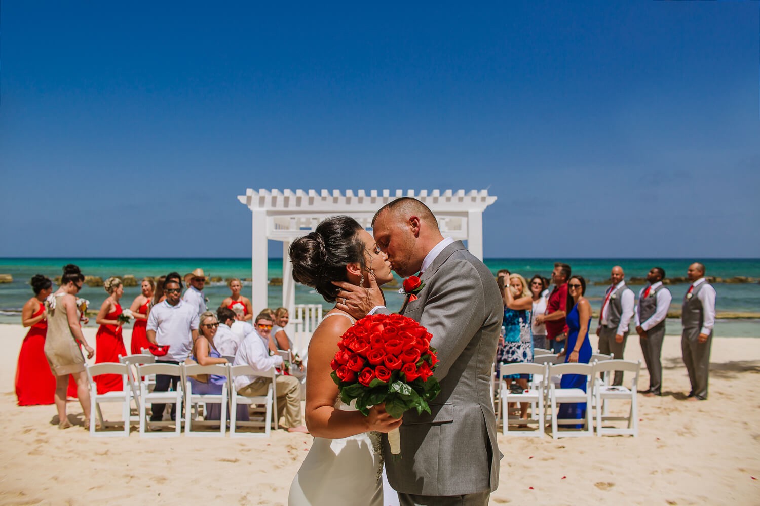
M325 318L334 314L340 313L331 313ZM353 411L356 408L344 404L339 396L335 409ZM382 465L379 432L364 432L341 439L314 438L312 449L290 484L288 504L382 506Z

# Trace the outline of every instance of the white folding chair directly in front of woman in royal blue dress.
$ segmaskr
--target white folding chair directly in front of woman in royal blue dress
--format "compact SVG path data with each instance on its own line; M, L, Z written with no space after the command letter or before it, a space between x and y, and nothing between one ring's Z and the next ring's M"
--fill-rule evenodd
M591 421L591 393L594 389L594 366L587 363L560 363L549 365L547 374L550 377L562 376L565 374L578 374L586 376L586 391L583 388L561 388L549 383L549 403L552 407L552 437L563 438L571 436L594 435L594 423ZM586 417L584 420L575 418L559 418L557 404L564 403L586 403ZM565 430L559 432L560 425L577 425L583 423L583 429Z

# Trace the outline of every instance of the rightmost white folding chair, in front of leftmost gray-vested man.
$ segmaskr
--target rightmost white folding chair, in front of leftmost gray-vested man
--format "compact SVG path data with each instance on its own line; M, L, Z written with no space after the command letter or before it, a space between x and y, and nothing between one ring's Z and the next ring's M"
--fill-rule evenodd
M638 385L638 372L641 370L641 360L605 360L594 364L594 376L597 374L610 375L610 372L627 371L633 372L632 387L625 385L607 385L600 378L594 380L594 399L597 405L597 435L632 435L638 436L638 409L636 406L636 391ZM628 416L608 416L606 414L607 401L630 401L631 408ZM600 409L600 406L602 409ZM605 427L604 422L628 422L628 427Z

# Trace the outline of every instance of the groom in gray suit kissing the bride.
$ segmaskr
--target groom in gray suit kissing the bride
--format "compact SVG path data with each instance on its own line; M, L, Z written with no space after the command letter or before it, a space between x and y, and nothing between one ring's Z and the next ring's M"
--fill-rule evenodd
M443 238L435 216L419 200L404 197L383 206L372 219L372 231L398 275L421 272L424 287L405 304L404 316L432 334L439 358L435 378L441 384L430 402L432 415L404 413L401 459L385 459L388 482L402 506L488 504L499 485L489 390L503 316L499 288L461 241ZM374 279L369 288L336 284L338 309L357 319L391 313ZM383 440L390 455L388 439Z

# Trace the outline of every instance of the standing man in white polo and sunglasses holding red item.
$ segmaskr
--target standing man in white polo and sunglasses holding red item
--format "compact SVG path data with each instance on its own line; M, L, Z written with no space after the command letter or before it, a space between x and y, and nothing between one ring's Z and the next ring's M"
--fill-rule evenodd
M150 309L147 317L147 340L153 344L169 345L163 357L156 357L157 362L182 363L192 352L192 344L198 338L198 313L194 306L180 297L182 284L174 279L163 283L166 300ZM169 384L177 389L179 376L156 375L154 391L167 391ZM165 404L154 404L151 408L150 421L160 422ZM176 418L176 406L172 404L172 420Z

